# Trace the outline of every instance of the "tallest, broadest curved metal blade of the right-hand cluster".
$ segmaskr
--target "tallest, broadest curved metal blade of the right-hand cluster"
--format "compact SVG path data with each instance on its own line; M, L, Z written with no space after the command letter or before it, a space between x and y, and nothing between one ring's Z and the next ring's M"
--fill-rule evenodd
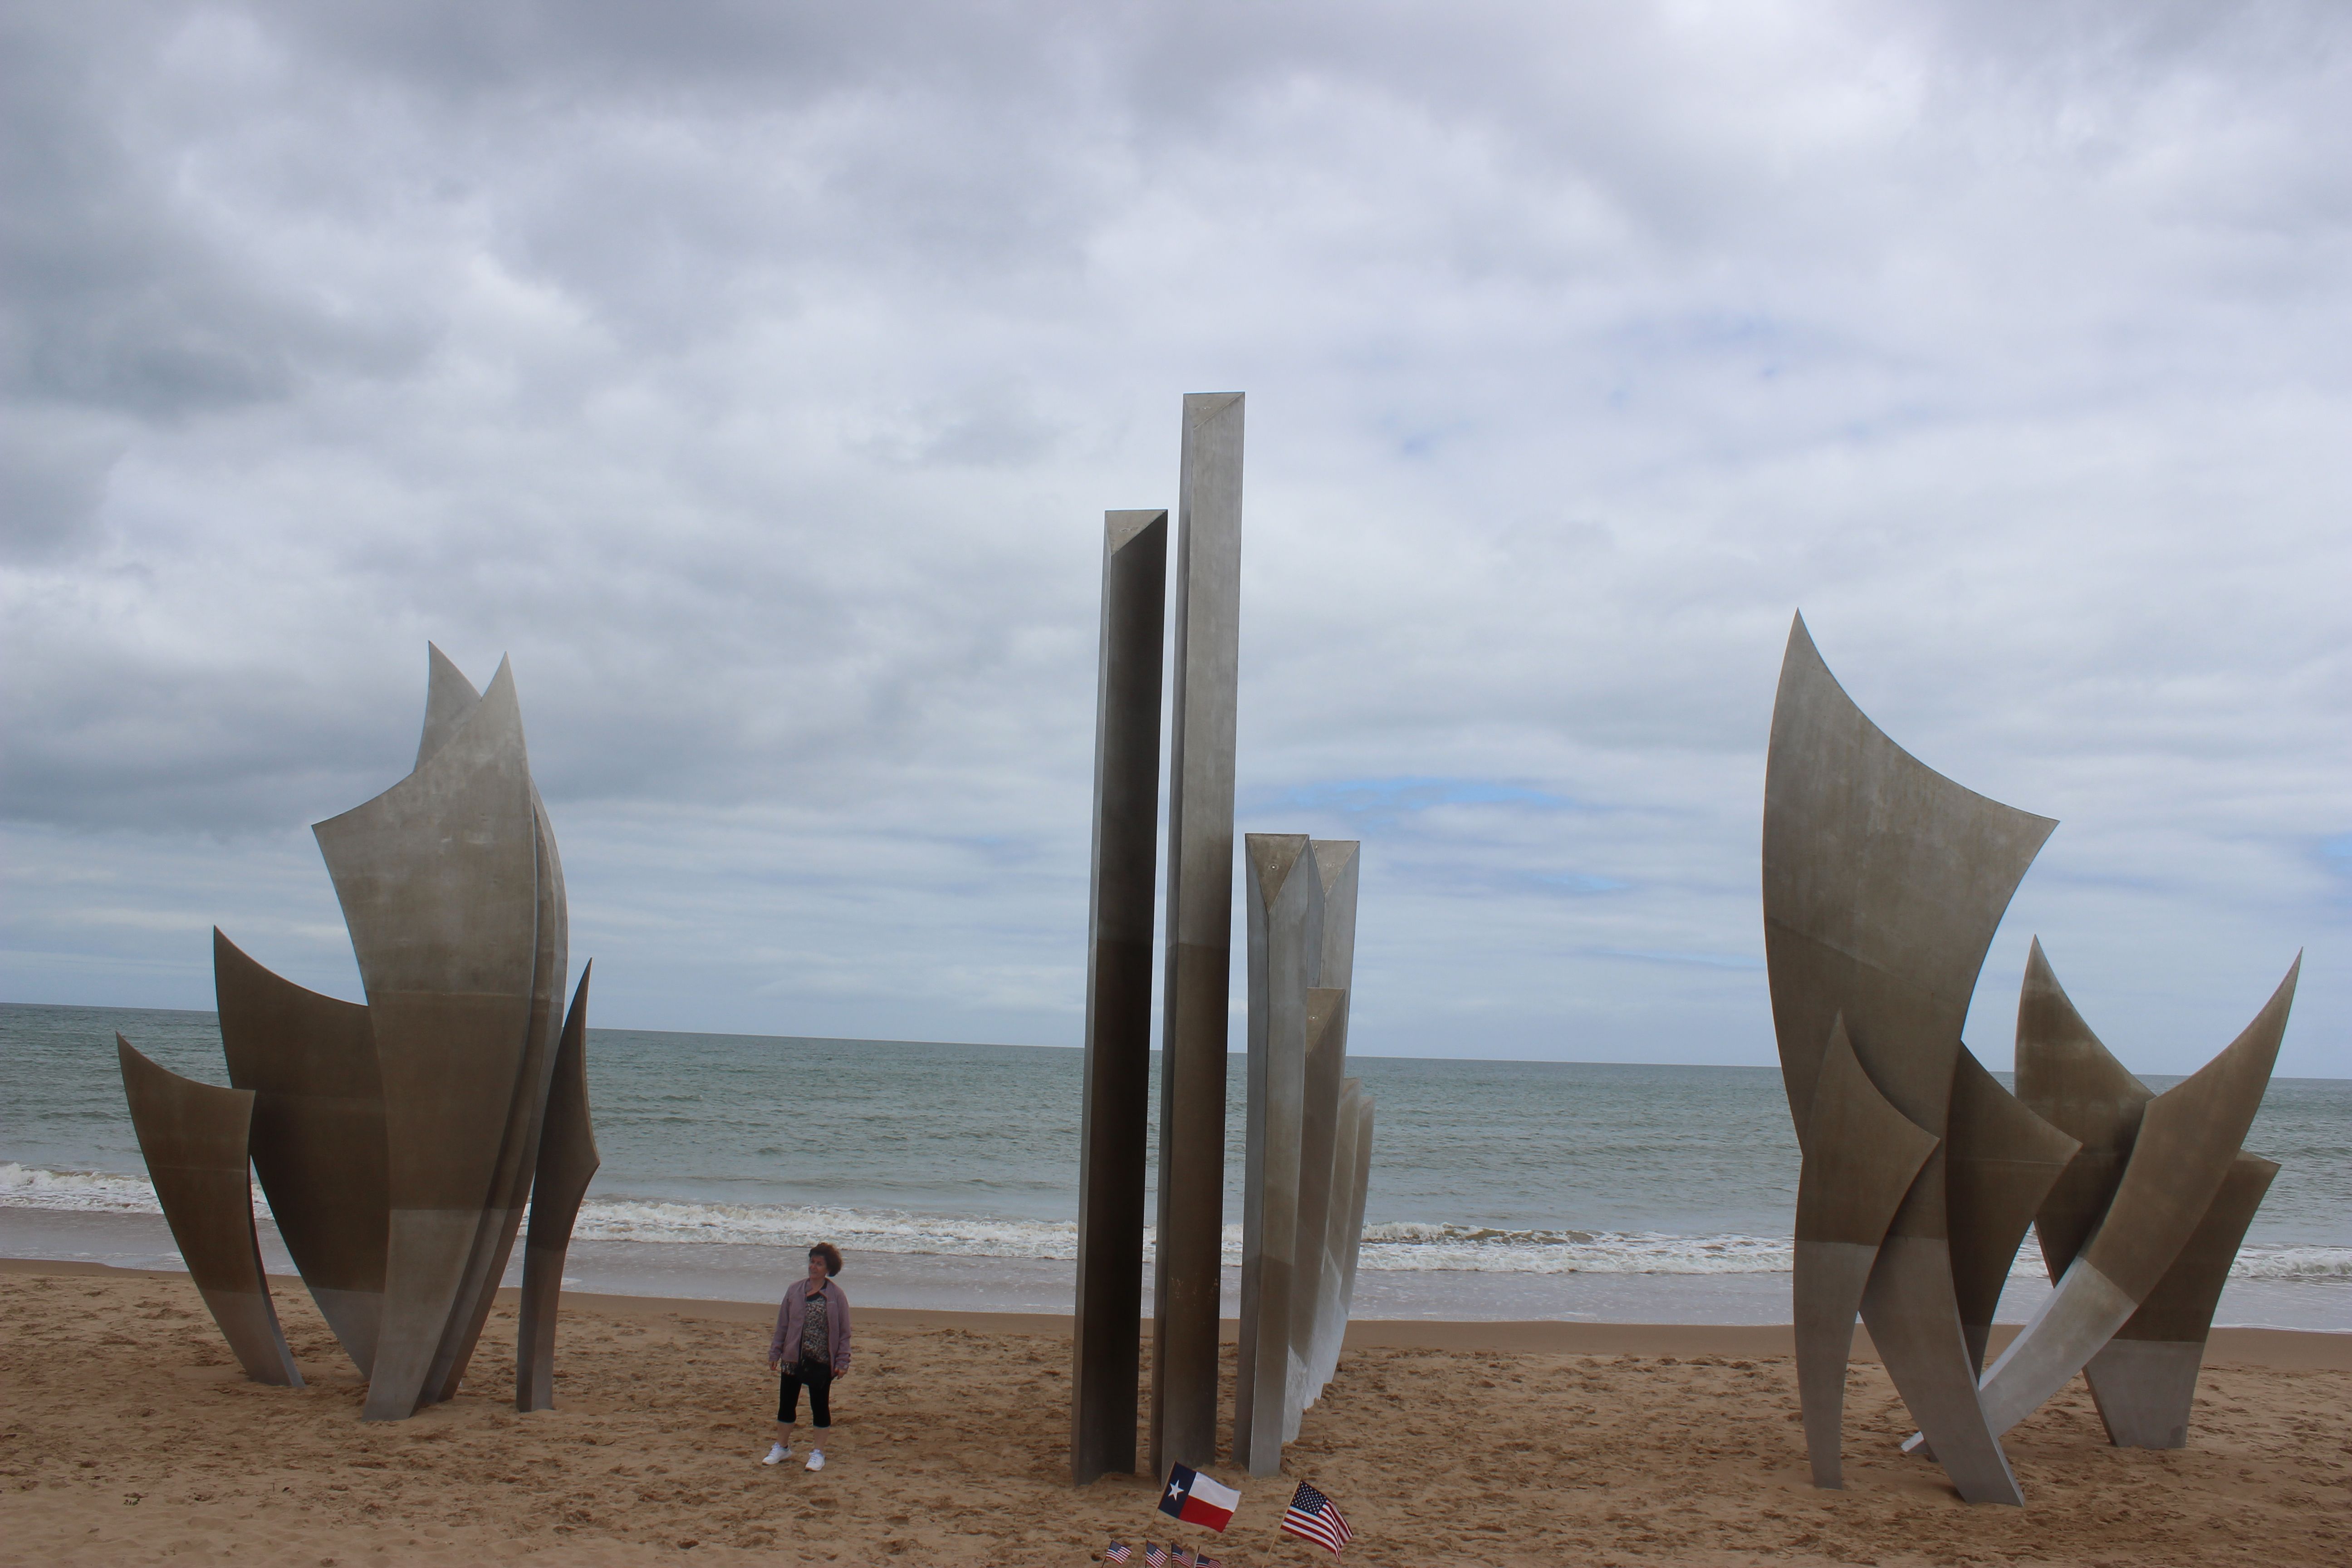
M1764 769L1764 957L1780 1074L1806 1159L1816 1079L1842 1018L1870 1084L1943 1138L1959 1030L2009 898L2056 823L1985 799L1917 762L1853 705L1797 618ZM1966 1401L1966 1335L1950 1269L1947 1150L1933 1147L1886 1222L1863 1316L1962 1495L2013 1502L2016 1483ZM1830 1335L1853 1267L1799 1204L1795 1312ZM1896 1246L1917 1241L1919 1246ZM1846 1246L1853 1246L1851 1241ZM1945 1333L1950 1328L1950 1333ZM1820 1345L1799 1380L1825 1385ZM1837 1361L1837 1378L1844 1361ZM1813 1401L1823 1408L1823 1401ZM1816 1458L1835 1441L1809 1432ZM1990 1458L1987 1458L1990 1455Z

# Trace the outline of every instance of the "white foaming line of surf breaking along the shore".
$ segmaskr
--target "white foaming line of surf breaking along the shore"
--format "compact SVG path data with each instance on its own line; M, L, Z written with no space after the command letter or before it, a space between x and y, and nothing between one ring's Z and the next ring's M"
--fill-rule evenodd
M162 1213L155 1187L108 1171L47 1171L0 1161L0 1208L80 1213ZM268 1213L254 1190L256 1213ZM875 1253L946 1253L969 1258L1077 1258L1070 1220L929 1215L837 1204L687 1204L642 1197L595 1197L572 1232L583 1241L670 1241L731 1246L807 1246L837 1241ZM1152 1232L1145 1229L1145 1258ZM1223 1234L1225 1262L1242 1260L1242 1227ZM1677 1237L1668 1232L1503 1229L1489 1225L1367 1225L1359 1267L1376 1272L1465 1269L1482 1274L1785 1274L1795 1265L1788 1237ZM2352 1246L2246 1246L2232 1279L2352 1281ZM2042 1276L2027 1241L2013 1276Z

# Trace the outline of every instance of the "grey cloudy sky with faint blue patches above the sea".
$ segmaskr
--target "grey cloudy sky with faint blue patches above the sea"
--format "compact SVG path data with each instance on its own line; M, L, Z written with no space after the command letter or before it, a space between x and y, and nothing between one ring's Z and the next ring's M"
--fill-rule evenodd
M1249 393L1240 825L1355 1048L1769 1063L1802 609L2027 936L2352 1074L2340 5L0 9L0 999L358 997L510 656L597 1023L1077 1044L1101 515ZM1240 1044L1240 1039L1235 1039Z

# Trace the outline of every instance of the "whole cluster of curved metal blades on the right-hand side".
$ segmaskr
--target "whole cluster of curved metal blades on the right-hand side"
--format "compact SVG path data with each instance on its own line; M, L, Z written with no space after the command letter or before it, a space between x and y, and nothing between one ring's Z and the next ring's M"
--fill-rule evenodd
M1842 1483L1856 1312L1919 1420L1905 1448L1940 1460L1971 1502L2023 1502L1999 1434L2147 1302L2140 1331L2112 1345L2100 1408L2117 1408L2110 1434L2185 1427L2183 1347L2194 1338L2201 1354L2220 1253L2267 1185L2267 1161L2234 1161L2296 976L2213 1065L2150 1100L2065 1006L2037 945L2011 1095L1959 1027L2051 827L1903 752L1797 618L1764 783L1764 952L1804 1152L1795 1328L1816 1486ZM1978 1382L2034 1220L2060 1286Z

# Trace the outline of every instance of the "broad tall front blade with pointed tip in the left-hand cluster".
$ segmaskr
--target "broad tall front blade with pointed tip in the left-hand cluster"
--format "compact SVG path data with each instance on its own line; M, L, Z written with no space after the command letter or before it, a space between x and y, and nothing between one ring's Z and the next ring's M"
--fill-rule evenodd
M539 830L506 663L423 764L318 823L367 987L383 1074L383 1319L367 1420L428 1401L435 1356L501 1197L499 1168L532 1048Z

